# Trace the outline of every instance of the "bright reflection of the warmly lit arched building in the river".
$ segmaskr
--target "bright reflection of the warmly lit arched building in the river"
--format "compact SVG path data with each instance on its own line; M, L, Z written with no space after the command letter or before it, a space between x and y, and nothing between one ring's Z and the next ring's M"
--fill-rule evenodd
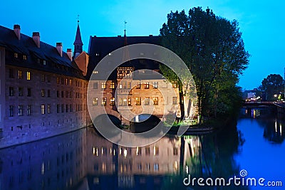
M178 174L180 167L185 169L186 160L197 156L200 147L199 137L162 137L145 147L130 148L115 145L95 132L87 135L88 181L99 189L161 185L162 175ZM108 180L116 182L108 184Z

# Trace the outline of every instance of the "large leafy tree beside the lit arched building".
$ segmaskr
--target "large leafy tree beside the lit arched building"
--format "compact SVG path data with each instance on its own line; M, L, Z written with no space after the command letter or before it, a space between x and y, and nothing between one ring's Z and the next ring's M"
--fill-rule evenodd
M239 75L249 63L237 21L215 16L212 10L203 11L201 7L190 9L188 15L184 10L171 11L160 36L162 45L177 53L193 75L199 115L217 117L217 113L229 112L234 102L228 101L230 95L224 92L236 88ZM163 74L171 73L164 65L160 68ZM167 79L177 80L172 75Z

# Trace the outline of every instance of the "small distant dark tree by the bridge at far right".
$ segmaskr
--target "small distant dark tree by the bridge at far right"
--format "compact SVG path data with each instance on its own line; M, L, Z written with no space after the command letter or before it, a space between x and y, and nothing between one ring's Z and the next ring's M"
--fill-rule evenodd
M284 92L284 80L281 75L270 74L262 80L259 89L264 91L266 100L276 101L279 94Z

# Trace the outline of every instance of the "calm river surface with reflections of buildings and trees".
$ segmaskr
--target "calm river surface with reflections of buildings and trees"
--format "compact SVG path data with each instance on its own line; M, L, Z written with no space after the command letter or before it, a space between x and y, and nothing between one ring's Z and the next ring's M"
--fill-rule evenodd
M120 147L88 127L0 149L0 190L284 189L285 122L270 112L243 109L223 130L146 147Z

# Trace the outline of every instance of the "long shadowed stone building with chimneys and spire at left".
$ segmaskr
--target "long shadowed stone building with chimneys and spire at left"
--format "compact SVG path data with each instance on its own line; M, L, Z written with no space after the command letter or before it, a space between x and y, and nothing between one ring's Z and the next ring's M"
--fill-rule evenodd
M0 148L86 127L80 41L78 25L73 60L62 43L43 43L38 32L26 36L19 25L0 26Z

